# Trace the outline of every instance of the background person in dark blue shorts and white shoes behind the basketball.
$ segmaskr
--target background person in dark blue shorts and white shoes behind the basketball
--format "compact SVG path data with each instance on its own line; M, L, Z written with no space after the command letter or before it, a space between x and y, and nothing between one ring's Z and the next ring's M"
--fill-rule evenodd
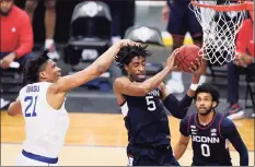
M202 29L195 13L188 8L189 2L189 0L166 0L166 4L162 9L162 20L167 23L167 32L173 37L173 50L183 45L187 32L190 33L194 44L201 47ZM202 73L205 72L206 67ZM202 74L199 84L205 81L206 76ZM172 77L167 81L166 87L171 93L183 93L182 72L172 72Z

